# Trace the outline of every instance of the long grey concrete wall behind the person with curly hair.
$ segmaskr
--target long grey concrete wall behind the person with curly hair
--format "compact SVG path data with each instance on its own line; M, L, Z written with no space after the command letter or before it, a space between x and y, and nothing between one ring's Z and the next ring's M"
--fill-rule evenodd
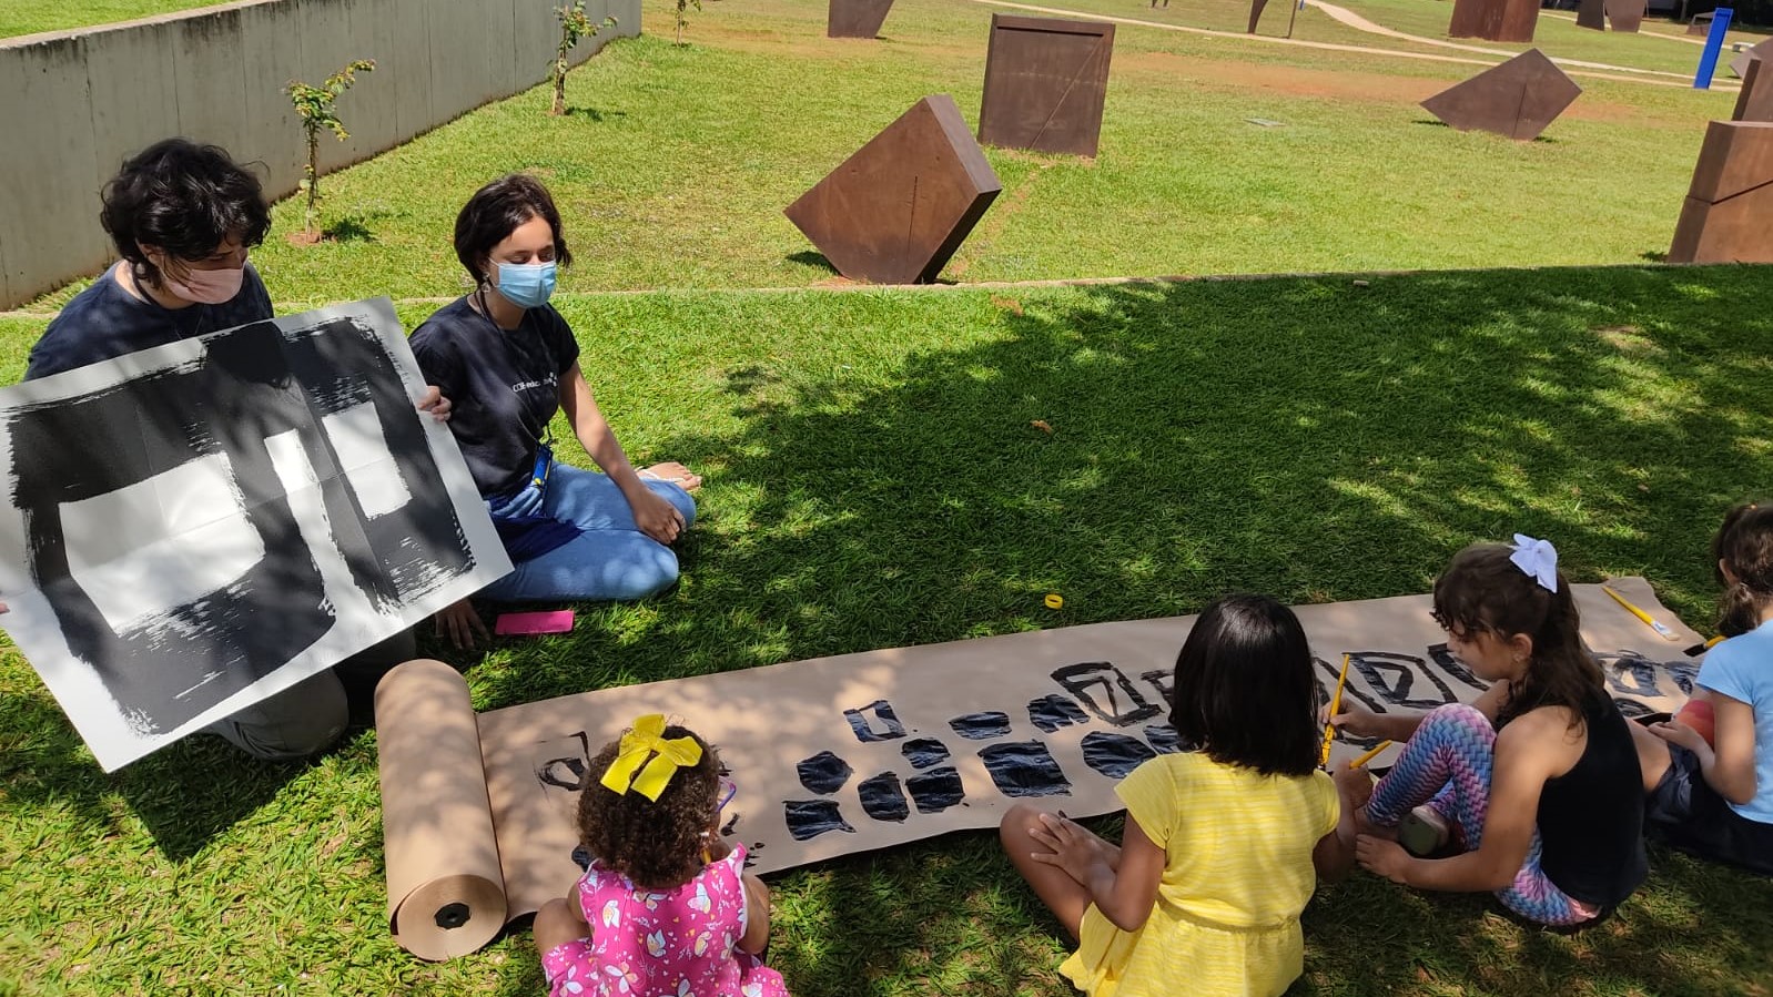
M284 87L374 58L339 99L351 138L321 138L337 170L548 78L562 0L245 0L122 25L0 41L0 308L113 259L98 189L129 154L174 135L262 161L266 195L307 158ZM640 0L587 0L605 28L573 50L640 34Z

